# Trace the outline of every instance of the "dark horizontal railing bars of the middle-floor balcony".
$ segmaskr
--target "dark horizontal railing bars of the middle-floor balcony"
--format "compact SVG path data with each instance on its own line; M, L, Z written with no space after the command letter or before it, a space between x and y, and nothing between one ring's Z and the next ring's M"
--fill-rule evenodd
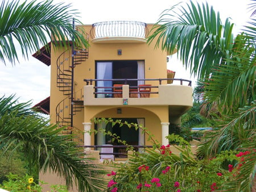
M129 85L129 94L130 97L149 97L150 94L158 94L158 86L162 85L162 82L166 81L176 81L180 85L183 85L184 82L187 82L188 86L191 86L192 82L190 80L184 80L181 78L159 78L159 79L108 79L108 80L93 80L93 79L84 79L86 85L94 85L94 94L97 95L104 94L104 98L112 98L115 95L122 94L122 85ZM158 81L158 82L156 82ZM99 82L108 82L113 86L98 86ZM121 85L117 89L115 84ZM142 84L142 85L138 85ZM138 86L137 86L138 85Z

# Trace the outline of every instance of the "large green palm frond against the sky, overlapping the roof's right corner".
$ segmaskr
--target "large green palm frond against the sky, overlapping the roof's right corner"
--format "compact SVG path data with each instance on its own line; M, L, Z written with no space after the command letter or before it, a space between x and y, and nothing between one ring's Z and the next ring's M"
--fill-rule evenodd
M156 47L169 52L177 48L183 65L203 79L212 73L213 64L225 64L224 59L232 55L232 29L229 19L222 24L220 14L208 3L190 1L164 11L152 28L148 43L156 39Z

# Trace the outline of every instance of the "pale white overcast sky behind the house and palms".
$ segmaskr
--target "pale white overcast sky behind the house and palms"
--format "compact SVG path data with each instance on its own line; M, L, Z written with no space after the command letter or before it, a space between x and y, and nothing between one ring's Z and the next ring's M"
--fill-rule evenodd
M20 0L22 2L23 0ZM29 0L28 0L29 1ZM160 14L176 5L181 0L53 0L53 3L64 2L71 3L72 9L80 12L80 20L84 24L93 24L110 20L135 20L144 23L155 23ZM187 0L185 0L187 1ZM195 1L193 1L195 2ZM197 2L205 2L199 0ZM249 0L208 0L209 5L213 6L215 11L220 12L223 20L231 18L236 24L234 32L240 31L240 28L249 20L249 10L247 9ZM32 55L32 53L31 53ZM181 62L176 59L176 55L170 57L167 63L167 69L176 72L175 78L185 78L192 80L196 85L196 78L189 75ZM0 97L15 94L19 102L31 101L31 106L39 103L49 96L50 91L50 67L43 64L34 57L29 56L23 59L19 56L19 63L15 66L10 63L0 61Z

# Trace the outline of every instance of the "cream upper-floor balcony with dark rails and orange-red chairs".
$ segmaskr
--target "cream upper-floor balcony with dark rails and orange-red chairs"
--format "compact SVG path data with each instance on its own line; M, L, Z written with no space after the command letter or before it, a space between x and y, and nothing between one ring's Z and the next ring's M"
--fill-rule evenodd
M179 84L166 84L168 80ZM164 78L84 81L84 106L169 106L174 114L182 114L193 102L189 80ZM112 82L113 86L95 86L104 81ZM144 85L132 86L133 82L143 82ZM115 85L119 85L118 89Z

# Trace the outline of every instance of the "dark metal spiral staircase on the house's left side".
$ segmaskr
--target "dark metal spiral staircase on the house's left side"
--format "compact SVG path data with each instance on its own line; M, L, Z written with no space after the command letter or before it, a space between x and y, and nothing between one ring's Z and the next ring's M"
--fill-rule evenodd
M88 59L88 49L74 48L73 45L57 58L57 87L67 95L56 106L56 123L65 126L63 134L77 135L79 143L82 141L81 131L73 126L73 116L81 111L83 105L82 90L74 89L74 69Z

